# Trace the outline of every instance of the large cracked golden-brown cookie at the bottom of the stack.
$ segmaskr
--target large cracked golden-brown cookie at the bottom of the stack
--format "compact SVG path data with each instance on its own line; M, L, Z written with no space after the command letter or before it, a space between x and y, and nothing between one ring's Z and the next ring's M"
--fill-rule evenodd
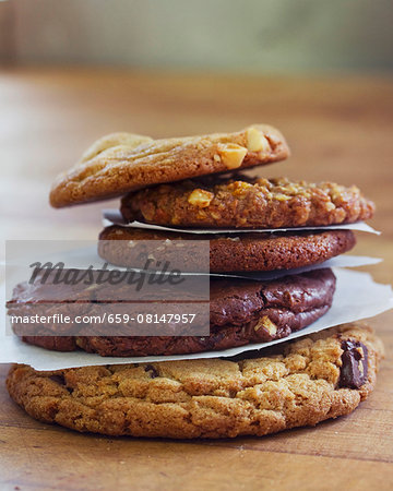
M367 349L367 378L341 386L343 340ZM151 438L264 435L352 412L376 383L383 356L368 327L346 324L281 355L37 372L11 369L11 397L33 418L81 432ZM360 349L365 354L365 349Z

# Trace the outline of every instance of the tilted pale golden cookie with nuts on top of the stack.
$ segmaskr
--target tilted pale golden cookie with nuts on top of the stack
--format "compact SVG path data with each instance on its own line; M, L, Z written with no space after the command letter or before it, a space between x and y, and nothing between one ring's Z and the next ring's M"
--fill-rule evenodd
M114 133L98 140L50 192L55 207L70 206L164 182L283 160L288 146L278 130L252 124L236 133L152 140Z

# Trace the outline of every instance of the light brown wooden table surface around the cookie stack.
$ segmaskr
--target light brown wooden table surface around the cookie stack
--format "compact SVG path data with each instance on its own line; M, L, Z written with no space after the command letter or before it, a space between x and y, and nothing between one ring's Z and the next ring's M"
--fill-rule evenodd
M0 233L94 240L102 205L56 211L47 196L57 172L105 133L164 137L269 122L287 136L293 156L261 172L361 187L377 202L372 225L383 235L359 233L355 253L383 256L369 271L393 283L392 115L392 80L381 77L7 70L0 74ZM49 427L9 399L1 366L0 489L391 489L392 321L392 312L372 320L388 357L374 393L353 415L261 439L107 439Z

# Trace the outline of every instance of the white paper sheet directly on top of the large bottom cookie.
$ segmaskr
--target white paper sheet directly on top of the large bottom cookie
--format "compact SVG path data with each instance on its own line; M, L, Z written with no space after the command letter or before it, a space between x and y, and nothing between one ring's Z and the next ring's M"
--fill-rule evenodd
M224 351L210 351L194 355L177 355L167 357L130 357L112 358L86 354L84 351L57 352L20 342L15 336L0 336L0 363L25 363L36 370L60 370L73 367L99 364L123 364L169 360L187 360L198 358L230 357L243 351L265 348L300 336L305 336L345 322L371 318L393 308L393 291L390 285L373 282L368 273L335 268L337 278L336 292L330 311L317 322L302 331L272 343L252 344ZM4 290L2 289L2 292ZM4 292L2 294L4 295ZM3 306L3 299L1 301ZM2 315L3 322L5 315ZM1 330L5 332L5 326Z

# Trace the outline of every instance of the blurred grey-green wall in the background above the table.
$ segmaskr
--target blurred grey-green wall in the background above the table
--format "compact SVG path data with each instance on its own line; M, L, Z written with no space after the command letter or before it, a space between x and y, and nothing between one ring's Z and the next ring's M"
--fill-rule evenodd
M0 1L0 58L247 73L393 68L392 0Z

